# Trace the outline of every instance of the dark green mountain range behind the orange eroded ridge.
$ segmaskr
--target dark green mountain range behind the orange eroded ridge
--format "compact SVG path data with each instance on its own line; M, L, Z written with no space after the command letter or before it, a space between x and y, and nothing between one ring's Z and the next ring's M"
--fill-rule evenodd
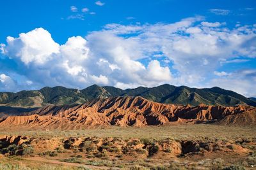
M138 87L136 89L118 89L116 87L92 85L83 90L67 89L65 87L44 87L40 90L0 92L0 106L15 106L22 108L38 108L49 104L81 104L92 99L116 96L141 96L157 103L172 104L207 104L221 106L237 106L247 104L256 106L256 101L248 99L236 92L213 87L211 89L196 89L186 86L160 85L158 87Z

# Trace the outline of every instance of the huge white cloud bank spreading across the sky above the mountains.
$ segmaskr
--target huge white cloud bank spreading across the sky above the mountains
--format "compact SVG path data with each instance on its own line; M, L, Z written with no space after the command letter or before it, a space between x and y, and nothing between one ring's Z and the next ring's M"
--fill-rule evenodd
M83 89L92 83L122 89L162 83L202 87L207 81L217 85L223 76L234 79L234 73L216 71L223 64L255 59L255 32L253 25L228 29L220 22L193 17L172 24L108 24L85 38L68 38L63 45L40 28L7 38L1 49L36 87ZM209 80L212 73L218 77Z

